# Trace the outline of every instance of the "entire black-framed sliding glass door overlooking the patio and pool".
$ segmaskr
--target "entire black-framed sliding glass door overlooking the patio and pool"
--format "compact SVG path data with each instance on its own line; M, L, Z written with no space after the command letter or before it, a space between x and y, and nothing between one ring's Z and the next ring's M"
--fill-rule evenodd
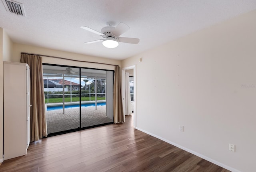
M113 123L113 71L43 65L48 134Z

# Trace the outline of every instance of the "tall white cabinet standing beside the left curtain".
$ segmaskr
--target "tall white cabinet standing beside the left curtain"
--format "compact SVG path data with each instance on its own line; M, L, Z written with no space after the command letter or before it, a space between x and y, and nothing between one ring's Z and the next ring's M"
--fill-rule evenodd
M30 142L30 69L4 61L4 160L26 155Z

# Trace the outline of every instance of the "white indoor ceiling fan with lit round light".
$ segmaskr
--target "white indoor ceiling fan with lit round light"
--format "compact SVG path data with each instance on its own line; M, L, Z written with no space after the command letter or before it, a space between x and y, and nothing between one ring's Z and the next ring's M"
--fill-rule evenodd
M115 48L118 46L119 42L137 44L140 42L138 38L126 38L120 37L124 32L128 31L130 28L127 24L119 23L116 27L112 26L111 22L106 23L106 27L101 29L101 32L88 28L86 26L81 26L80 28L90 31L94 34L98 34L103 37L103 39L85 42L85 43L95 43L102 41L102 44L108 48Z

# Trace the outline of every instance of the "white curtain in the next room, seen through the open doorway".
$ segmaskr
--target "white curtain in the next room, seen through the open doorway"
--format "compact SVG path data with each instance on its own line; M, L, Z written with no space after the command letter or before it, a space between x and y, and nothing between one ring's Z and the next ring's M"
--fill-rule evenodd
M130 76L129 73L125 73L125 96L124 96L124 115L132 114L132 101L131 101L131 92L130 92Z

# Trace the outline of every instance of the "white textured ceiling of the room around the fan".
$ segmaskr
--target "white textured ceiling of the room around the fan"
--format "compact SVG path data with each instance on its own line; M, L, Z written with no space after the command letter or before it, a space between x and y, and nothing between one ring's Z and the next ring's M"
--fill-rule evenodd
M0 2L0 27L16 43L122 60L196 30L256 9L256 0L16 0L26 17L7 12ZM123 37L139 38L136 45L120 43L108 49L100 32L106 22L130 27Z

